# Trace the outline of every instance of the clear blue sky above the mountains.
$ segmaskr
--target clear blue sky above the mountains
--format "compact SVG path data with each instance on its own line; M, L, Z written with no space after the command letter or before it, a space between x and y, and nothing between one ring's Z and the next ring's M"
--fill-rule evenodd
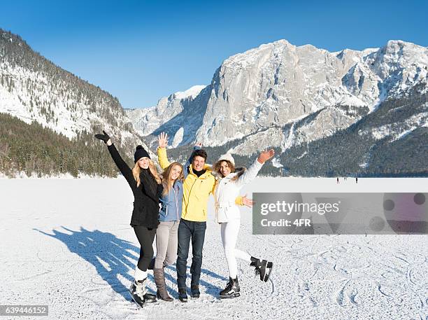
M337 51L428 46L428 1L2 1L0 28L126 108L209 84L222 61L286 39Z

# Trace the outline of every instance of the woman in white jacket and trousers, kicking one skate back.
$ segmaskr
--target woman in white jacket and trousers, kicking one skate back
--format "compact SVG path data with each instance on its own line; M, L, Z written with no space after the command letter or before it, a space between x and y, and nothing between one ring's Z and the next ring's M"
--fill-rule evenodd
M213 171L218 176L214 192L215 221L221 225L224 255L229 267L229 283L224 290L220 291L220 298L235 298L240 295L236 258L245 260L255 267L255 272L259 274L262 281L267 281L271 274L273 264L270 261L254 258L245 251L235 248L241 225L241 214L235 199L241 188L255 179L264 162L273 158L273 155L275 155L273 149L263 151L248 169L235 170L234 158L227 153L222 155L214 165Z

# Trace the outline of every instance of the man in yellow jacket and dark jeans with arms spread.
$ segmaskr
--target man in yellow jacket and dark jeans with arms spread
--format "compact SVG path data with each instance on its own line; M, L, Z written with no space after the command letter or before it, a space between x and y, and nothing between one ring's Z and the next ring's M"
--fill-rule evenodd
M157 156L162 169L169 166L166 157L167 135L162 132L159 136ZM186 269L189 256L190 240L192 240L192 265L190 273L192 281L190 290L192 298L199 298L199 278L201 277L202 249L204 247L208 197L215 189L215 177L211 167L206 165L206 151L195 146L194 151L184 167L183 174L183 211L178 225L177 252L177 284L178 298L187 302ZM236 203L243 205L243 198L236 198Z

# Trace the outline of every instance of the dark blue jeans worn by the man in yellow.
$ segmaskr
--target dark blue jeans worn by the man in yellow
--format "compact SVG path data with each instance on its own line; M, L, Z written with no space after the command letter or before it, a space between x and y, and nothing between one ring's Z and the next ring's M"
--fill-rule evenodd
M202 248L204 247L206 222L180 220L178 225L177 251L177 284L178 288L186 288L187 256L189 256L190 240L192 239L192 286L199 286L202 265Z

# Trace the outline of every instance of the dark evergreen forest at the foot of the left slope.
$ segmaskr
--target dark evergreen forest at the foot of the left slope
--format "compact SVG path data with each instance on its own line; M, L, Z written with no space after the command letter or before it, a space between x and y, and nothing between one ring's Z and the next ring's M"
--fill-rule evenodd
M122 157L133 165L131 148L126 149L128 152L122 150ZM39 123L27 124L0 113L0 172L10 177L18 172L37 176L83 173L113 177L117 175L117 167L106 146L92 132L80 133L70 140Z

